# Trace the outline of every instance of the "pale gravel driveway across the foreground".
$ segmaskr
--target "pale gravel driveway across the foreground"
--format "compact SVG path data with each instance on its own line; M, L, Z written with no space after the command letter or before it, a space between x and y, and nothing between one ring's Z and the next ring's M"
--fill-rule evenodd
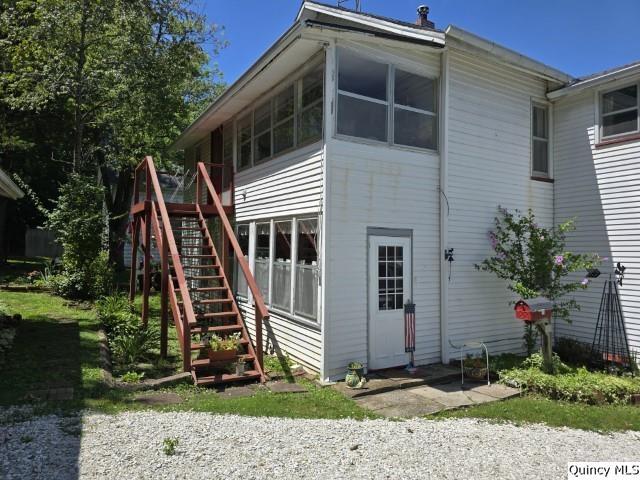
M80 435L82 430L82 435ZM162 451L177 437L173 456ZM289 420L206 413L37 417L0 426L3 479L566 478L637 460L640 434L476 420Z

